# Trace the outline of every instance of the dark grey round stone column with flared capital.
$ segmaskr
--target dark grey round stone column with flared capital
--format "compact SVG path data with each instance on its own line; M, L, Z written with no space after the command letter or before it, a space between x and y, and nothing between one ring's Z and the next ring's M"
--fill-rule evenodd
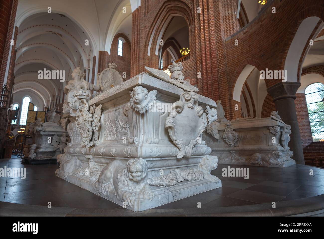
M295 107L296 91L299 87L300 82L279 82L269 87L267 92L271 94L281 119L291 125L291 140L288 146L294 152L292 158L296 163L305 164Z

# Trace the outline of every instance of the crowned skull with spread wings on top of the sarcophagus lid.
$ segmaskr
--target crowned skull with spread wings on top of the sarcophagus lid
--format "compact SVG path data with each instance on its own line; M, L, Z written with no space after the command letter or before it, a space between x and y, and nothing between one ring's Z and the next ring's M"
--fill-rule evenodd
M175 62L173 62L173 63L175 63ZM168 82L170 84L173 84L175 86L178 86L179 88L181 88L184 91L193 91L193 92L198 92L199 91L199 89L197 87L194 87L188 81L183 81L182 82L182 80L181 80L182 76L181 76L180 73L177 74L177 76L173 75L173 79L171 79L170 76L168 75L168 73L166 73L166 72L164 72L162 70L154 69L154 68L147 67L147 66L145 66L145 69L151 75L155 76L156 78L158 78L158 79L160 79L162 81ZM178 69L177 71L180 71L180 70ZM182 73L182 75L183 75L183 73ZM171 76L172 76L172 74L171 74ZM179 81L178 81L178 79L179 79Z

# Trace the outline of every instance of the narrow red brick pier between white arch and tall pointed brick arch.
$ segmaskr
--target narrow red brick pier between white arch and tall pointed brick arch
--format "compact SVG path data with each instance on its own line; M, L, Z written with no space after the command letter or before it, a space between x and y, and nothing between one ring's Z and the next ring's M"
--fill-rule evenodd
M140 6L132 12L131 77L140 72Z

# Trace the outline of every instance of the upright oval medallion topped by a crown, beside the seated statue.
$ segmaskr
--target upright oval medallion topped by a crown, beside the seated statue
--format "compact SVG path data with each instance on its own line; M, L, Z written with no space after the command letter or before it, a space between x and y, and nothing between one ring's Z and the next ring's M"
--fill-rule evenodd
M116 70L117 65L109 63L108 68L98 73L98 81L101 91L106 91L123 82L121 74Z

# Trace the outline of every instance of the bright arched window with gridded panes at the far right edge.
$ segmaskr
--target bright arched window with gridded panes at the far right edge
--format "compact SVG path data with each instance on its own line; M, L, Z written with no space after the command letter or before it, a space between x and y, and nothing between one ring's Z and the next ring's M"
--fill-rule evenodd
M305 96L313 141L324 141L324 84L307 86Z

